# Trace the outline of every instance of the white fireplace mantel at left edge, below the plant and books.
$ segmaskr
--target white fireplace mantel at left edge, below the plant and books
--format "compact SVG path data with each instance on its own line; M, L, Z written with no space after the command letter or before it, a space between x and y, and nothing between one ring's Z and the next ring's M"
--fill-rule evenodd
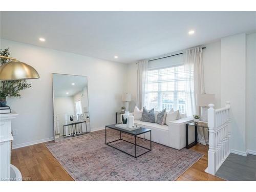
M16 112L0 114L0 181L20 180L22 175L11 165L11 120L17 117ZM11 172L11 169L15 169ZM11 175L17 173L17 175Z

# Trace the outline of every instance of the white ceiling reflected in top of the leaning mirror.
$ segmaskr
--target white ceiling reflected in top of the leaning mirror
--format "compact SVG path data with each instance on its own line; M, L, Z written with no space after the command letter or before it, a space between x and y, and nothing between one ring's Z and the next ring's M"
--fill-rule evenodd
M72 83L75 83L72 85ZM78 75L53 74L54 97L73 96L87 86L87 77ZM67 94L67 92L69 94Z

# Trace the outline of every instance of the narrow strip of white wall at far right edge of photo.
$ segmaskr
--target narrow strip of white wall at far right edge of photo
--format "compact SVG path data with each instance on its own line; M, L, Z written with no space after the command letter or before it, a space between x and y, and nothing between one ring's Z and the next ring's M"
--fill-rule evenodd
M247 110L246 145L247 150L256 152L256 33L247 35Z

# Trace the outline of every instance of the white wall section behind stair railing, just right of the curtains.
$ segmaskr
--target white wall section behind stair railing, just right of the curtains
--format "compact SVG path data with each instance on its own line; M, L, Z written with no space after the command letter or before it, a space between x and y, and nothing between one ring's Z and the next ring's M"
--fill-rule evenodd
M230 101L231 149L245 152L246 34L221 39L221 102Z

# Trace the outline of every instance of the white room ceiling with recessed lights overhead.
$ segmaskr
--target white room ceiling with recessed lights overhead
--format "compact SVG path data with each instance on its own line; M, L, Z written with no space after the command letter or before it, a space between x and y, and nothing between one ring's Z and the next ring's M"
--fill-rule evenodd
M1 38L124 63L254 31L256 12L1 12Z

